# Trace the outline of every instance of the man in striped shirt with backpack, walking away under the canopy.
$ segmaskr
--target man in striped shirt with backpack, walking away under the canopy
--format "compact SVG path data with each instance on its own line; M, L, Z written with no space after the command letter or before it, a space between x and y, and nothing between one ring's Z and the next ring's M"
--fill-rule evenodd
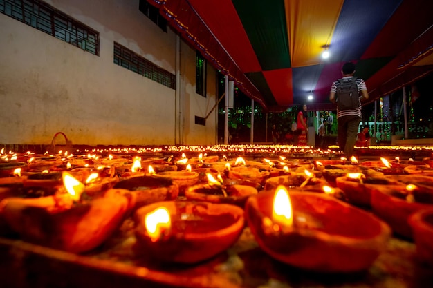
M338 146L348 160L353 156L361 121L361 99L369 98L365 81L353 77L355 68L352 62L345 63L341 71L343 77L333 82L329 94L329 100L337 104Z

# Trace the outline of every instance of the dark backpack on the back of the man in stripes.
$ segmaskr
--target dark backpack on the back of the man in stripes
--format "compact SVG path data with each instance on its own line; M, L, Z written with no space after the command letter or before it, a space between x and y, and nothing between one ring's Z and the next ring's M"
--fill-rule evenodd
M337 107L339 111L356 109L360 106L359 90L356 78L338 79L337 86Z

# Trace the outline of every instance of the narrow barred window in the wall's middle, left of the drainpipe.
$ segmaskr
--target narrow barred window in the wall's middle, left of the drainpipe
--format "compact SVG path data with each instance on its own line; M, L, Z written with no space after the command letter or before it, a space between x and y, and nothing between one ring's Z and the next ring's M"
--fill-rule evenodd
M175 89L176 76L141 57L128 48L114 43L114 63L135 73L152 79L164 86Z

